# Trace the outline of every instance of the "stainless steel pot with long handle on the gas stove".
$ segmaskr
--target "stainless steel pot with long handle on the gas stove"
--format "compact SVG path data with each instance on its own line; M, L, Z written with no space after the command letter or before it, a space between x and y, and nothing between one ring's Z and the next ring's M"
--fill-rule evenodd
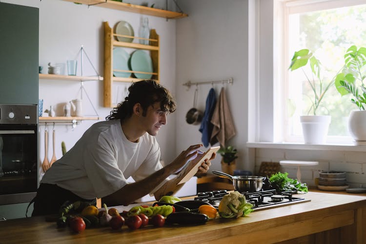
M231 176L224 172L215 170L213 170L212 173L214 175L230 179L233 182L234 189L239 192L246 192L246 191L253 192L253 191L260 191L262 189L264 179L264 177L262 176L247 176L247 175Z

